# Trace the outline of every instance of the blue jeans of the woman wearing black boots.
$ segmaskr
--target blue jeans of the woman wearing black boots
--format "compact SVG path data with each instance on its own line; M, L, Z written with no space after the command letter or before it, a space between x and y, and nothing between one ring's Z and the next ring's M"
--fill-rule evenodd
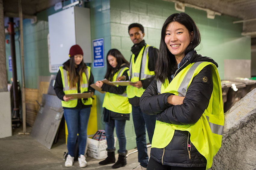
M119 150L118 153L126 153L126 138L125 138L125 121L126 120L114 120L110 118L109 123L105 123L105 132L107 137L107 151L114 152L114 128L116 127L117 138L119 141Z

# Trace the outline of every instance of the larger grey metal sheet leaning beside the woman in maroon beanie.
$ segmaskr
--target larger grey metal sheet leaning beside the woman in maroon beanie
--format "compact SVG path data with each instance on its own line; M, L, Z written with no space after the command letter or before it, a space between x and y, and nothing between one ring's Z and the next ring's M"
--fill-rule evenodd
M51 149L62 117L61 100L57 96L43 94L42 108L36 116L31 136Z

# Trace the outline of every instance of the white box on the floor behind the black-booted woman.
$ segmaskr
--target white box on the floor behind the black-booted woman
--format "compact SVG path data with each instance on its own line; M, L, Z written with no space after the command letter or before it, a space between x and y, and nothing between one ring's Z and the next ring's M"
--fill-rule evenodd
M114 146L116 146L117 138L114 137ZM108 156L107 140L97 141L95 139L87 138L87 155L95 159L105 159Z

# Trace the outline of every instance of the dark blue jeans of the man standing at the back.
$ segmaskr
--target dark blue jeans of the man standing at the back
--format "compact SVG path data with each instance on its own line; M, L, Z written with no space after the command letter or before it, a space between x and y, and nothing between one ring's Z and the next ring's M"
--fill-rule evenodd
M142 113L139 106L132 106L133 109L133 124L136 133L136 144L138 149L138 160L140 165L146 168L148 166L148 150L146 141L146 128L148 138L152 143L152 138L155 130L155 115L146 115Z

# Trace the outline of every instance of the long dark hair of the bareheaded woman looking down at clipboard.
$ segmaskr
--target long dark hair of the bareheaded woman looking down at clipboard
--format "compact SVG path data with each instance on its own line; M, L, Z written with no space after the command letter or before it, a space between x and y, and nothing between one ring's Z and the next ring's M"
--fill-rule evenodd
M109 55L114 56L117 59L117 66L116 66L116 68L113 68L109 64L109 62L108 62L108 56ZM126 64L129 65L129 62L123 57L123 55L117 49L109 50L106 58L107 58L107 72L106 72L105 78L110 80L110 81L113 80L114 74L120 69L120 66L123 63L126 63Z

